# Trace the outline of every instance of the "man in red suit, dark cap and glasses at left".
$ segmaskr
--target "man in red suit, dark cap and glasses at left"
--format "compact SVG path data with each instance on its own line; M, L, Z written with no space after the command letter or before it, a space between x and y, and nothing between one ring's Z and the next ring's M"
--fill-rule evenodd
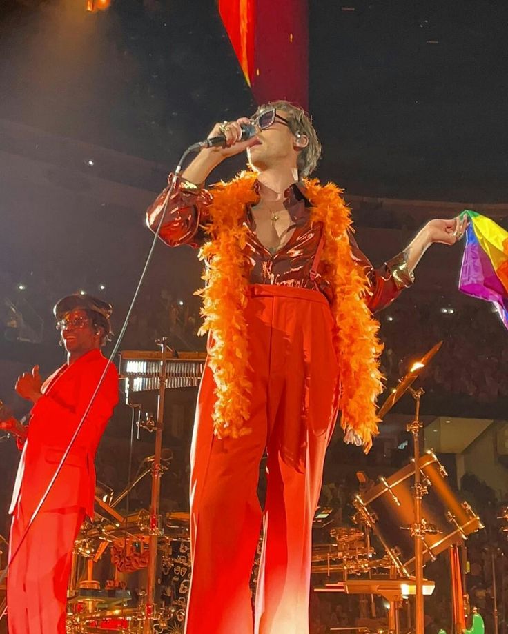
M44 382L37 366L17 380L17 393L33 403L28 433L14 419L2 425L10 424L22 449L10 506L10 634L66 632L72 548L85 515L93 517L95 451L118 402L118 375L110 365L64 466L20 546L108 364L100 348L110 339L110 304L91 295L69 295L53 312L67 362Z

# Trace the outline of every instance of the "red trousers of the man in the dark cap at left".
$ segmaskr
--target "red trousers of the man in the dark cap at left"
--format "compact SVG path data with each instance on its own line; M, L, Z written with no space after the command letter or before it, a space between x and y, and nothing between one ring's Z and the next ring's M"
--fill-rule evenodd
M39 513L7 577L9 634L65 634L72 548L84 520L73 507ZM9 559L17 550L31 513L18 503L12 516Z

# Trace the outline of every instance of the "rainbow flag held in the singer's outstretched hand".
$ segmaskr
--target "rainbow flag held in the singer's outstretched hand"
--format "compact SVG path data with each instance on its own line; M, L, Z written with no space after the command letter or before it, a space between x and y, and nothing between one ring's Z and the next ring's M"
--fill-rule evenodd
M469 223L458 288L491 301L508 329L508 231L476 211L466 209L464 215Z

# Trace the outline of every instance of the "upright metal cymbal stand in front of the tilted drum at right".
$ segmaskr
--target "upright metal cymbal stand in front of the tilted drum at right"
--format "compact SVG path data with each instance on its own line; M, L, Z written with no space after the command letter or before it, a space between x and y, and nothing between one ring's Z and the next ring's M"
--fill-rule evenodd
M425 538L426 523L422 521L422 497L427 493L427 486L422 482L420 472L420 429L423 423L420 421L420 399L424 395L423 388L413 390L409 388L411 396L415 400L415 417L406 426L407 431L413 435L413 454L415 464L415 484L413 496L415 504L414 522L411 526L411 535L415 544L415 631L416 634L424 634L424 603L423 603L423 540Z

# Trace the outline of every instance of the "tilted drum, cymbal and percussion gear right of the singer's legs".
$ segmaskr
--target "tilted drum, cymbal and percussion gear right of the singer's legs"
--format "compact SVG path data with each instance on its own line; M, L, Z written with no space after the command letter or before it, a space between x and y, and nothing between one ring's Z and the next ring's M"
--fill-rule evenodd
M413 459L393 475L380 477L378 484L355 495L353 521L358 530L333 529L331 537L335 537L335 544L327 549L319 546L319 552L313 555L313 573L324 573L327 577L325 584L315 587L315 591L384 597L389 604L388 630L395 634L399 631L402 599L409 595L415 595L415 619L411 628L408 615L408 629L424 633L424 595L432 593L434 587L433 582L423 577L424 564L445 551L450 552L451 562L459 562L458 548L468 535L483 528L471 506L460 502L453 493L446 470L436 455L431 451L420 455L420 399L424 390L413 390L411 385L441 344L413 364L378 413L382 419L404 393L411 393L416 411L406 429L413 436ZM371 535L382 548L380 557L375 557ZM460 565L458 568L461 577ZM452 577L453 573L457 577L453 565L451 571ZM340 580L332 581L333 573L340 573ZM464 620L464 615L455 614L456 606L462 606L463 601L463 582L462 579L457 582L455 577L451 584L453 624Z

